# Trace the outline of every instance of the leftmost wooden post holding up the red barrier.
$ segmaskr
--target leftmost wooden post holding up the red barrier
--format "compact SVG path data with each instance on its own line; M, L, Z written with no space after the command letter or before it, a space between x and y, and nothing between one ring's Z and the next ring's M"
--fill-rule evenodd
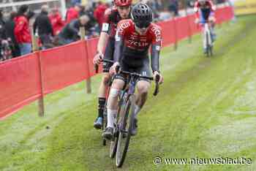
M33 31L31 31L33 33ZM32 34L32 50L36 52L39 50L37 44L37 37ZM42 66L41 66L41 56L39 52L39 76L40 76L40 88L41 88L41 96L38 99L38 115L44 116L45 115L45 105L44 105L44 92L43 92L43 84L42 84Z

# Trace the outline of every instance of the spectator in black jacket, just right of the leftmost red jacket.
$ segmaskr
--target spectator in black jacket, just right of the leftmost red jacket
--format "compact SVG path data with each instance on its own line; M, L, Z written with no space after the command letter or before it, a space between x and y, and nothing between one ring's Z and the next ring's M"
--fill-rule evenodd
M49 7L43 5L41 7L41 13L37 16L33 25L34 34L38 34L43 47L48 47L51 44L50 37L53 37L53 27L48 17L48 10Z

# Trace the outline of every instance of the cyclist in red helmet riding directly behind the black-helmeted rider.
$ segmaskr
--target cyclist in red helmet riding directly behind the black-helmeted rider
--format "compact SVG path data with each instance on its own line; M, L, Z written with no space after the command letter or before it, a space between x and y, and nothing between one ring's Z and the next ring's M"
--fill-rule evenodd
M99 64L101 58L113 60L116 26L120 20L130 18L129 13L131 11L132 0L115 0L114 4L113 7L110 7L105 11L102 31L97 45L97 55L94 57L94 64ZM104 48L105 54L103 55ZM111 64L103 63L102 82L99 86L98 116L96 121L94 121L94 128L96 129L102 128L103 112L106 102L105 94L106 89L108 88L108 80L110 79L108 73L110 66Z

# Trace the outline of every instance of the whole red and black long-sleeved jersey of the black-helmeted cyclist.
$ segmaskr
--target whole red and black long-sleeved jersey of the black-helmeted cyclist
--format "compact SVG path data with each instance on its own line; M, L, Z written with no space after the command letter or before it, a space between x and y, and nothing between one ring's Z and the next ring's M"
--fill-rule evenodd
M121 20L116 31L114 61L130 67L143 67L151 46L151 69L159 71L159 52L162 45L161 28L154 23L145 34L138 34L132 20Z

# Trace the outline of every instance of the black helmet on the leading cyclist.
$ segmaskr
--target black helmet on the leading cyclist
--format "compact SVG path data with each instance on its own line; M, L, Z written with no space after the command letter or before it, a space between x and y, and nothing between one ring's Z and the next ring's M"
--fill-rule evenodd
M138 28L146 28L153 20L152 9L147 4L138 3L132 8L132 20Z

